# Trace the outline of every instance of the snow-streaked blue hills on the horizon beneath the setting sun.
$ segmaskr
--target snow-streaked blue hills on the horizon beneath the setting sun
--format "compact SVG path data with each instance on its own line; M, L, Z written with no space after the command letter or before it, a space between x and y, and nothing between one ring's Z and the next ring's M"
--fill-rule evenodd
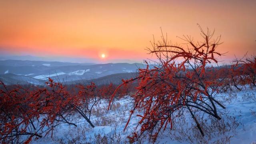
M51 77L56 81L74 82L76 80L100 78L111 74L134 73L138 68L145 67L144 64L139 63L78 64L67 62L0 60L0 74L6 74L4 77L7 81L8 74L15 74L38 80L47 80L48 77Z

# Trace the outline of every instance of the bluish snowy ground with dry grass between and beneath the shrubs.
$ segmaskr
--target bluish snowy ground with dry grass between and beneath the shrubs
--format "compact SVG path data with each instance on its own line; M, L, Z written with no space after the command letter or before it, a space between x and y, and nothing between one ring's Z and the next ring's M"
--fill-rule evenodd
M222 136L227 136L231 144L255 144L256 143L256 90L243 90L241 92L227 92L218 94L223 100L222 103L226 106L225 113L228 116L234 116L237 127L225 132L224 134L215 134L213 138L208 140L208 143L216 143L216 140L220 140ZM130 114L130 108L132 106L129 98L123 98L116 101L112 110L106 111L108 103L101 102L98 104L93 112L92 122L96 125L95 128L91 128L84 119L78 118L76 124L77 127L62 125L56 128L53 138L50 135L45 138L33 140L32 143L108 143L123 144L128 143L127 136L133 132L136 122L139 118L134 116L131 119L130 124L126 131L124 126L128 120ZM224 110L223 110L224 112ZM187 117L187 116L185 116ZM225 119L225 118L224 118ZM191 121L186 121L182 126L188 128L187 132L193 134L193 130L189 129ZM232 127L232 125L231 125ZM178 129L178 128L177 128ZM184 140L178 140L173 136L175 132L170 129L165 130L159 134L156 143L158 144L180 144L189 143ZM142 139L142 143L150 143L145 136ZM198 143L198 142L192 142ZM222 142L220 142L222 143Z

